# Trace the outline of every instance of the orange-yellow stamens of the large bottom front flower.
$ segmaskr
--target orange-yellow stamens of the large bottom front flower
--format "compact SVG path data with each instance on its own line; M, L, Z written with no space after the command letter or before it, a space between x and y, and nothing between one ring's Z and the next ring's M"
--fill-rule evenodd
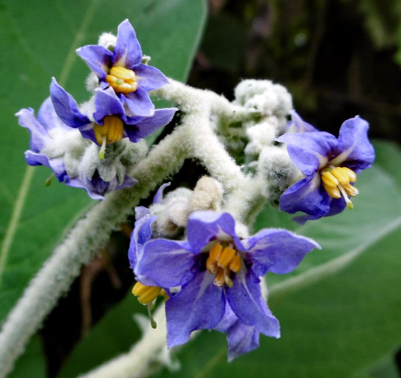
M223 248L221 243L217 243L209 251L206 267L209 273L216 273L213 281L216 286L227 285L232 288L233 281L230 275L231 273L237 273L241 269L241 259L235 249L229 246Z

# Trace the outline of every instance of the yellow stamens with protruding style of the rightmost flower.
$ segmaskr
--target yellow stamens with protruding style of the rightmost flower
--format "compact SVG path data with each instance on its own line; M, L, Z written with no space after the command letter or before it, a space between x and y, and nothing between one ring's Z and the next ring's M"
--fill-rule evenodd
M328 165L320 174L326 192L333 198L344 197L348 209L353 209L354 205L348 196L355 197L359 193L358 189L350 184L356 181L356 173L347 167Z

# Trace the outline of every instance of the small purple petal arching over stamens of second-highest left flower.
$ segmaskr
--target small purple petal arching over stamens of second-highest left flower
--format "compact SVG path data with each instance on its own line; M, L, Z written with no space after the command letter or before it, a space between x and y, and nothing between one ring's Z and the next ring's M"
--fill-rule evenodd
M110 115L119 116L124 122L127 121L124 108L113 88L96 88L95 90L95 113L93 118L96 123L103 125L103 118Z

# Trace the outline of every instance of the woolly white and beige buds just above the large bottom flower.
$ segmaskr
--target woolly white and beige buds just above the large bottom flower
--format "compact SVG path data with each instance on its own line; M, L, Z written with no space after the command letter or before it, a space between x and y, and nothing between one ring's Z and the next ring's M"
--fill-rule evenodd
M184 230L190 213L198 210L219 210L223 187L212 177L201 177L194 190L178 188L154 203L149 211L157 215L154 233L159 237L177 237Z

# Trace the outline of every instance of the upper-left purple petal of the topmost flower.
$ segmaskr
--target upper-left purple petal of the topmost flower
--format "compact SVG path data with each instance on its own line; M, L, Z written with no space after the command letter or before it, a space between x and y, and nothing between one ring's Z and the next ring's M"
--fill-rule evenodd
M110 50L97 44L90 44L75 51L99 79L105 80L108 68L113 64L113 53Z

